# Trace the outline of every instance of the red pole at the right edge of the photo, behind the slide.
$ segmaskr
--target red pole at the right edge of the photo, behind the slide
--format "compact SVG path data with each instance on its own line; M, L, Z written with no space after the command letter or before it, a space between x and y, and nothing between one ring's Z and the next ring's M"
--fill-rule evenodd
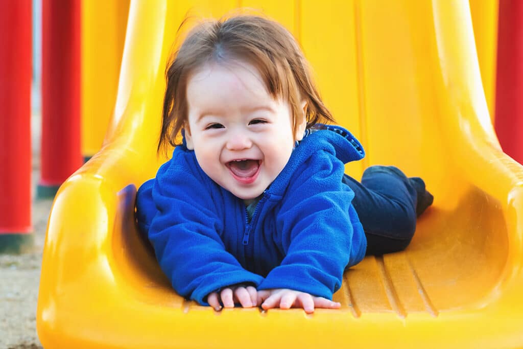
M499 0L495 129L503 150L523 164L523 2Z

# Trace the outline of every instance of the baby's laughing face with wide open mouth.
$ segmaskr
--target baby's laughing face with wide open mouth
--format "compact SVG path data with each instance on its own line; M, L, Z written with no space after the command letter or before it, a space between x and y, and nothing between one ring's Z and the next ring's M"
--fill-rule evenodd
M289 103L272 98L255 67L243 62L202 66L188 80L187 104L187 148L214 182L246 203L274 181L301 139ZM296 117L302 135L305 117Z

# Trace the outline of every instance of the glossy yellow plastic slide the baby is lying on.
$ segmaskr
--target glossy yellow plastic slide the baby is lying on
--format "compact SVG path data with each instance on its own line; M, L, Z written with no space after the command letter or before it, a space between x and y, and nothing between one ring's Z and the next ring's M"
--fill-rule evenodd
M136 188L154 176L165 63L187 9L133 1L103 149L55 198L38 334L50 348L523 347L523 167L495 137L467 1L242 1L300 40L322 95L367 157L435 196L406 251L345 275L340 310L225 309L178 296L140 240ZM202 7L203 5L203 7Z

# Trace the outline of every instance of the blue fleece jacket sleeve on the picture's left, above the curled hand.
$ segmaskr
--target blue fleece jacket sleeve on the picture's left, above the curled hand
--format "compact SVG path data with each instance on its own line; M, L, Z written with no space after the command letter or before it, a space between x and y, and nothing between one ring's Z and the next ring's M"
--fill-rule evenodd
M263 277L246 271L225 250L219 235L223 222L213 209L207 184L188 168L170 165L164 164L156 178L140 188L137 218L174 289L207 306L207 295L223 287L259 285Z

